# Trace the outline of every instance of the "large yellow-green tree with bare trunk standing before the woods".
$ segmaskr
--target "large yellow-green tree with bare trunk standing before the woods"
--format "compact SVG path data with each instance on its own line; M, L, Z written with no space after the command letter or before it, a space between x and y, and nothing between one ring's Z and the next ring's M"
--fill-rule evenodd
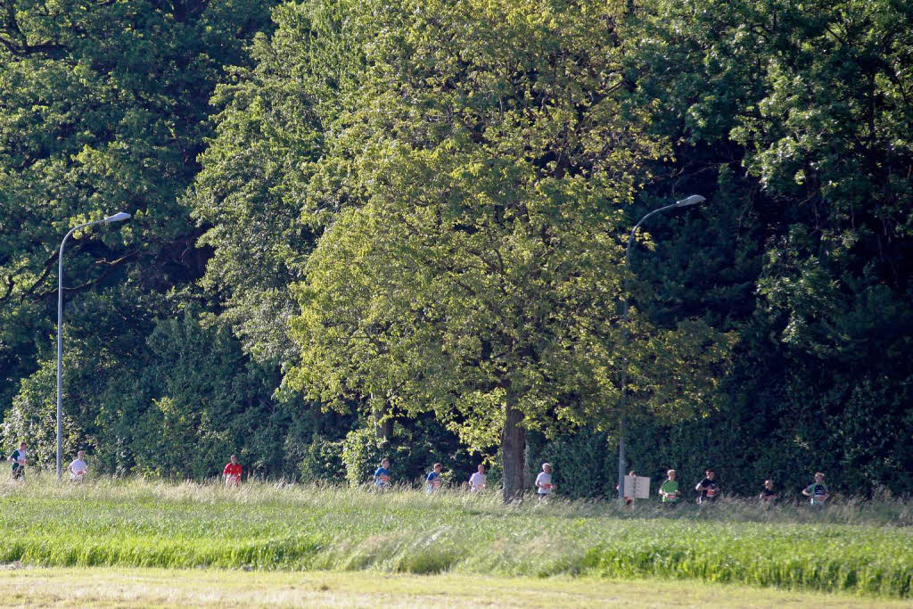
M505 500L522 492L527 429L614 420L623 362L645 373L668 341L704 373L719 361L698 322L656 335L635 314L620 340L619 207L660 150L614 95L622 11L404 3L340 136L361 203L333 217L295 290L287 383L498 444Z

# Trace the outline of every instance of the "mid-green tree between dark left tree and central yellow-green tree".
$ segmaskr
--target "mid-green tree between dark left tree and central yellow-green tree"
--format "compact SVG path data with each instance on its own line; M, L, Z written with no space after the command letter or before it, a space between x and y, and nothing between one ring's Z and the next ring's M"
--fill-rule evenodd
M278 7L272 37L250 47L253 68L236 68L213 97L215 138L187 202L212 247L204 283L223 318L258 359L291 361L287 335L298 312L289 286L316 240L310 191L320 189L321 158L362 69L367 22L358 3L315 0ZM334 192L334 194L337 194Z

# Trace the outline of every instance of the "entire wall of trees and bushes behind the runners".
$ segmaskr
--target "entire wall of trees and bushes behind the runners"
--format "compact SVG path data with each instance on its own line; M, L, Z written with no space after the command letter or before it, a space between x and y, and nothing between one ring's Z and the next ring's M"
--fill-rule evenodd
M0 6L0 411L38 465L59 240L122 210L67 254L101 471L475 450L598 494L624 371L639 472L913 490L909 3Z

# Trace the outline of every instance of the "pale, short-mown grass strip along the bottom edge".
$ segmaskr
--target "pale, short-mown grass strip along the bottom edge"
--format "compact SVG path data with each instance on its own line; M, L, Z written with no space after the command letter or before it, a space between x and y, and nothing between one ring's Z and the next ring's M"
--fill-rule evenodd
M237 572L120 568L7 568L0 606L332 607L904 607L822 593L715 583L591 578L496 578L382 572Z

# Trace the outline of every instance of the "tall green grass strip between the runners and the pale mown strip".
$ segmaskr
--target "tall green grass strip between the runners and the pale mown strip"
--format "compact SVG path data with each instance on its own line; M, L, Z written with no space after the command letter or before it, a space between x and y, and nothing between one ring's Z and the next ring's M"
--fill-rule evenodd
M908 503L626 511L463 492L50 478L0 487L0 562L691 579L908 599ZM375 577L370 576L370 577Z

